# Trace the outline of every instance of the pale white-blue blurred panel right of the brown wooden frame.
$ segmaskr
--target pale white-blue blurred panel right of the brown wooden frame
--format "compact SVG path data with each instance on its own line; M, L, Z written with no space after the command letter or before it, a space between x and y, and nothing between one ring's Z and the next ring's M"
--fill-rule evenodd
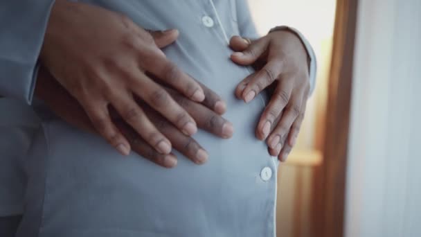
M421 1L358 14L346 236L421 236Z

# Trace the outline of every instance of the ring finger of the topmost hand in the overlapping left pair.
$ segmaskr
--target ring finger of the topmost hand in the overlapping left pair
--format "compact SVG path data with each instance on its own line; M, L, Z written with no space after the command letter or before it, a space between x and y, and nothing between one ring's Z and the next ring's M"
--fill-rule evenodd
M150 119L145 115L131 96L115 96L110 98L118 114L156 151L162 154L171 152L171 143L159 130L155 128Z

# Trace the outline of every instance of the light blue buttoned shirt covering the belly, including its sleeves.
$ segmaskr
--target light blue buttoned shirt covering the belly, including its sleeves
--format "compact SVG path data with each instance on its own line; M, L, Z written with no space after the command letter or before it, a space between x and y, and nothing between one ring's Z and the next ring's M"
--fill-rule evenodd
M3 96L22 103L31 101L37 57L52 2L0 3ZM179 157L177 167L165 169L134 153L122 159L99 136L77 130L55 116L40 116L40 125L27 126L25 139L19 140L29 147L28 152L24 148L8 149L1 156L0 162L5 164L1 167L21 168L3 168L10 172L8 179L0 176L0 216L21 213L25 207L17 234L22 237L275 236L278 161L269 156L266 144L254 135L267 98L261 94L249 104L235 98L235 87L252 69L229 59L229 38L258 37L247 2L85 2L122 12L149 30L179 29L179 39L164 49L165 55L224 98L228 105L224 117L233 123L235 134L225 140L199 131L194 137L208 150L208 162L197 166L175 152ZM311 58L313 87L314 53L298 35ZM16 111L30 108L2 100L1 111L6 107ZM42 105L35 108L38 114L43 109ZM19 114L1 112L3 117ZM2 124L0 129L8 134L19 134L25 124L5 121L9 124ZM8 137L1 136L0 143L6 144ZM15 145L19 147L18 142ZM16 175L20 173L23 175ZM15 182L22 177L26 183L23 188ZM23 189L23 206L15 203L15 208L8 208L13 199L10 197L21 197Z

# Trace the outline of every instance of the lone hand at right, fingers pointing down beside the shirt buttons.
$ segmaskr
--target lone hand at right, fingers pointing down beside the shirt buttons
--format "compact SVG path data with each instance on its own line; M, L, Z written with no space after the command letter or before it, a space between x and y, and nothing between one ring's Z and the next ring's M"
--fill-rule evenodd
M297 35L276 30L258 40L234 36L231 60L252 65L256 72L235 90L246 103L273 87L271 99L260 117L256 137L266 140L269 153L285 161L296 143L310 93L307 51Z

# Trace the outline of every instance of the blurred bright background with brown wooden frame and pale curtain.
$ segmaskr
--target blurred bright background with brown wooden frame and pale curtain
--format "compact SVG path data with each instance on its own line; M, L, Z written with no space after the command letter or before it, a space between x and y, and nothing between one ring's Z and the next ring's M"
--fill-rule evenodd
M260 35L297 28L318 61L278 236L421 236L421 1L248 1Z

